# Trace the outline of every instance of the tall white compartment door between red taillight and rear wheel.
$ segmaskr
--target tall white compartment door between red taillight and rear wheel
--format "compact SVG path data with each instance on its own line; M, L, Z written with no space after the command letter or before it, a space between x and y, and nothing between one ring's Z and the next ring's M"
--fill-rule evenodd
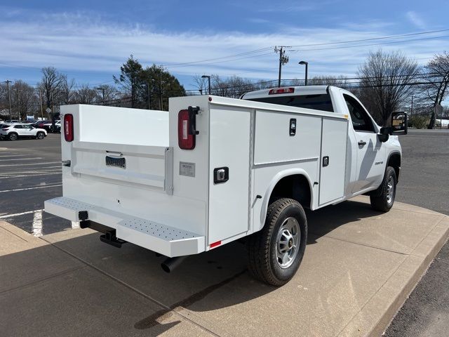
M210 107L208 244L248 231L250 118L249 109ZM225 182L214 181L220 169Z

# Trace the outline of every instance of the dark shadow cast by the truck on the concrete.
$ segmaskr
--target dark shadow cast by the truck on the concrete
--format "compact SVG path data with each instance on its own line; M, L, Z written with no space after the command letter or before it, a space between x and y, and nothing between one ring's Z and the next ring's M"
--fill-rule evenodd
M307 211L308 244L314 244L346 223L378 215L369 204L358 201ZM93 319L110 322L111 332L119 329L114 326L121 326L123 331L125 324L128 329L123 331L125 334L157 336L185 321L183 317L189 315L189 311L201 316L201 312L229 308L274 291L283 291L282 287L267 286L250 277L246 268L246 246L241 242L191 256L167 274L160 267L164 258L154 252L133 244L116 249L102 244L98 233L86 234L86 231L70 231L70 239L65 239L67 232L51 234L43 239L53 245L0 256L0 293L3 294L0 305L8 308L9 322L20 317L25 307L26 315L20 322L24 319L32 322L35 331L46 331L50 320L55 322L55 317L61 317L60 324L67 334L86 332L85 323ZM69 265L75 267L70 269ZM86 271L89 276L81 277ZM104 284L98 284L101 283L99 280ZM123 298L123 293L128 295ZM126 299L129 293L142 300L129 302ZM109 300L111 296L116 300ZM140 310L138 303L143 300L149 304L147 309ZM117 305L123 310L128 306L130 312L123 315L116 309ZM40 312L41 308L46 308L46 312ZM76 308L91 309L83 312ZM66 318L73 310L77 312L77 318ZM11 324L11 329L20 330L20 322ZM53 336L61 332L56 328L53 331Z

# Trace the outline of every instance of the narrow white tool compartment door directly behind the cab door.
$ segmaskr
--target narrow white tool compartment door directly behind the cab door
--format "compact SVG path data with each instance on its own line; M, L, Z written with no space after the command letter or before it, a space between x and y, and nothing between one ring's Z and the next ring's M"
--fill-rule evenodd
M323 117L319 205L344 196L347 119Z

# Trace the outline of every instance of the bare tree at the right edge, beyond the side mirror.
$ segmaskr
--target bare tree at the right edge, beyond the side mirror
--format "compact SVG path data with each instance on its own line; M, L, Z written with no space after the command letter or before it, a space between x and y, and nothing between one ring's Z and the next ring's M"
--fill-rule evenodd
M449 53L435 55L432 60L424 66L423 78L427 83L422 88L421 98L424 101L430 102L432 106L431 119L428 128L435 126L435 107L441 105L448 91L449 83Z

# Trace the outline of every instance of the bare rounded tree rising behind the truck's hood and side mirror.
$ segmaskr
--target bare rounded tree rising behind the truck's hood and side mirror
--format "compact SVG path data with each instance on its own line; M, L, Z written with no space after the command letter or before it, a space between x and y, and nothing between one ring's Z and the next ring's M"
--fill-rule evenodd
M399 51L370 53L368 60L358 68L359 98L376 121L385 126L391 112L410 95L410 84L418 74L417 62Z

